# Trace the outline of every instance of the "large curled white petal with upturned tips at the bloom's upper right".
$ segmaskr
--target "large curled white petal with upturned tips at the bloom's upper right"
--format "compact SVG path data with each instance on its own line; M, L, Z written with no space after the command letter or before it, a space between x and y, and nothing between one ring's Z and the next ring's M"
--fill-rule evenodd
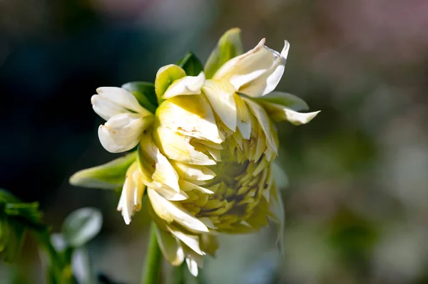
M251 97L270 93L282 77L289 47L285 41L278 53L267 48L263 38L251 51L226 62L213 78L229 80L236 90Z

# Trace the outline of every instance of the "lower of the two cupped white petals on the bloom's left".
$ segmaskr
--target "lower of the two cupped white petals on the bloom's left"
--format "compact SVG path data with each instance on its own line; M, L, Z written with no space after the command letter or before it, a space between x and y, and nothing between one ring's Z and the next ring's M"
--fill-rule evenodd
M152 117L142 117L136 113L123 113L111 117L105 125L98 128L98 137L103 147L111 153L125 152L136 147L153 122Z

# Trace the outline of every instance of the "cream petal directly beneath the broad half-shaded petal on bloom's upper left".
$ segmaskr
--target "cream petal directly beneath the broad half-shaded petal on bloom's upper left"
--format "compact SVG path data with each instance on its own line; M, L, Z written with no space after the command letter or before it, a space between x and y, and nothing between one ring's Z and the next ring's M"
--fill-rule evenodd
M190 137L180 135L167 127L156 127L153 139L159 149L168 159L174 159L185 164L210 165L215 164L206 154L195 149L190 144Z

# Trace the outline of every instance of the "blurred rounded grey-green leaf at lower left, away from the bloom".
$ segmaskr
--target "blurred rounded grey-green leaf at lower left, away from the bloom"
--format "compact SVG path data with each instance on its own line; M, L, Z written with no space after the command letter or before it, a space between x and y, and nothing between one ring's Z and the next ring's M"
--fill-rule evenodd
M103 215L95 208L81 208L66 217L62 231L69 246L78 248L101 230Z

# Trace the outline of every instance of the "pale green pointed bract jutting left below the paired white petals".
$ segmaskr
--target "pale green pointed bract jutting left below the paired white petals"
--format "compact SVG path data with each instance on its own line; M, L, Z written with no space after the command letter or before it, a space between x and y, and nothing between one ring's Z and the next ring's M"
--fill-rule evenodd
M116 189L125 182L128 167L136 160L136 152L98 167L82 169L70 177L70 184L97 189Z

